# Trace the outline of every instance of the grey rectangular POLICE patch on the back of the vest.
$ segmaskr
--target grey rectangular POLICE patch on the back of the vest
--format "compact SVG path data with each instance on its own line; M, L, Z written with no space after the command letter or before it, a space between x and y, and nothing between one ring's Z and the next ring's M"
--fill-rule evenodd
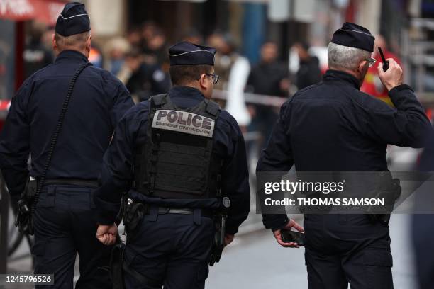
M157 110L152 119L152 128L213 137L216 120L187 111Z

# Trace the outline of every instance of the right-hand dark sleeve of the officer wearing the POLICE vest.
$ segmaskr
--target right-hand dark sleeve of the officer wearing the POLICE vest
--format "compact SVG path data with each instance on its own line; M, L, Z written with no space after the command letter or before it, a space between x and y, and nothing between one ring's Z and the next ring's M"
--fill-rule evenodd
M231 130L233 151L223 164L222 190L230 199L226 232L235 234L250 212L250 187L244 138L235 119Z

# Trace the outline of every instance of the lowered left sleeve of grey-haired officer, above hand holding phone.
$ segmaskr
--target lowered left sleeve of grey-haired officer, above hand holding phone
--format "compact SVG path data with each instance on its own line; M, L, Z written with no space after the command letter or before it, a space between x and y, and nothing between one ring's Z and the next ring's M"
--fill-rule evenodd
M290 137L286 133L287 114L289 113L289 102L284 103L280 109L279 119L274 125L273 132L269 138L267 147L262 151L262 155L256 166L257 198L260 204L263 203L264 193L260 190L263 188L260 176L262 171L282 171L287 172L294 164L294 158L291 150ZM262 214L262 222L267 229L281 229L288 222L288 217L284 209L281 214Z

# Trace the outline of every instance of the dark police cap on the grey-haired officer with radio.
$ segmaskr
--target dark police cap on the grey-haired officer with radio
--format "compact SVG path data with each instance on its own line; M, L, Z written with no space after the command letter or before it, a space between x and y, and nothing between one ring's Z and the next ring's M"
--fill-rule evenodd
M374 40L374 36L365 27L345 22L341 28L335 31L331 42L373 52Z

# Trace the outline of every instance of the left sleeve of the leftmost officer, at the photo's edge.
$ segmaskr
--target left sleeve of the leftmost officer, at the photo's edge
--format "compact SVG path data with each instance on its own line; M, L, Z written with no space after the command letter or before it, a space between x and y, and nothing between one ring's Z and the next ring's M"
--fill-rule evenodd
M30 122L26 111L26 99L30 97L32 82L26 81L15 97L1 130L0 167L13 202L24 190L28 177L30 153Z

